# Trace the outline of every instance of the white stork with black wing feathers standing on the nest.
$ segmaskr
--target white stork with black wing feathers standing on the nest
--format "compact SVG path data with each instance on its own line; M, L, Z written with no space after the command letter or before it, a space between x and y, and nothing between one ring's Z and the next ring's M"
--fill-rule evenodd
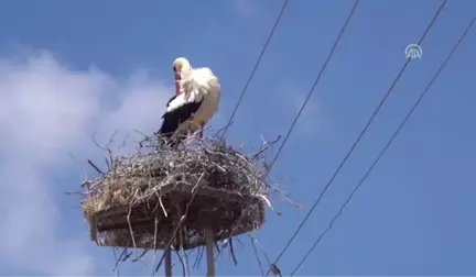
M171 145L184 140L187 134L199 131L218 110L220 82L208 67L192 68L186 58L173 63L175 96L166 106L159 134L173 140Z

